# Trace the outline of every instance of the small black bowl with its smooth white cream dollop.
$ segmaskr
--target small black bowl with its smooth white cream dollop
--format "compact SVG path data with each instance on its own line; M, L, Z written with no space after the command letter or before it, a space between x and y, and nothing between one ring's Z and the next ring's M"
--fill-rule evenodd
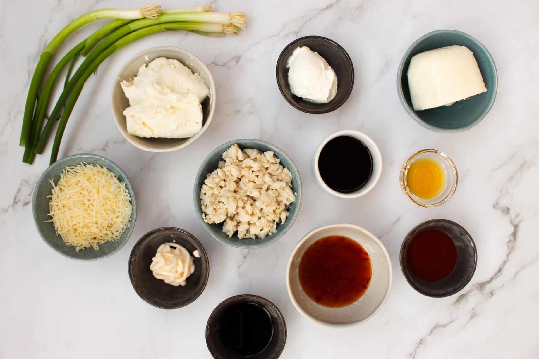
M341 107L354 87L354 65L335 41L306 36L292 41L277 60L277 85L285 100L308 114Z

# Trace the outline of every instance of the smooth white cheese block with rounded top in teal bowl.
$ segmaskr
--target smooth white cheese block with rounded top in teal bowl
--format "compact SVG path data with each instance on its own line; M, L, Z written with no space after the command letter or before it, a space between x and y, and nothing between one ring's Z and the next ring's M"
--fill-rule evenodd
M451 105L487 91L473 52L464 46L414 55L407 76L416 111Z

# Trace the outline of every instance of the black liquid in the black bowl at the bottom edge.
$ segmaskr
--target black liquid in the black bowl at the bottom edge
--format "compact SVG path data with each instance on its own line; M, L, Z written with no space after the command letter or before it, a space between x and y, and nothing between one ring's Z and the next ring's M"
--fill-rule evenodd
M230 307L219 320L219 338L233 353L243 356L260 354L273 337L271 316L251 302Z

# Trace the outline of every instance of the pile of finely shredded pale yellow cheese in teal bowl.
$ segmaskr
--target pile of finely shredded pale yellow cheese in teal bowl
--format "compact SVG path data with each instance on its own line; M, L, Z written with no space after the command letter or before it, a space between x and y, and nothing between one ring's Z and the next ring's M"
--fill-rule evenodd
M52 195L47 222L77 251L117 240L132 213L131 196L118 176L105 167L80 164L66 167Z

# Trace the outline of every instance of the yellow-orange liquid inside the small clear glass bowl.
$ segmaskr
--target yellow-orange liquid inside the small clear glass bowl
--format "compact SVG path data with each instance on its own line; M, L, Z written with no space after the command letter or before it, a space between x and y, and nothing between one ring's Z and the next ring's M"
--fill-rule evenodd
M439 196L447 184L444 167L432 158L413 161L406 173L406 185L420 199L430 200Z

